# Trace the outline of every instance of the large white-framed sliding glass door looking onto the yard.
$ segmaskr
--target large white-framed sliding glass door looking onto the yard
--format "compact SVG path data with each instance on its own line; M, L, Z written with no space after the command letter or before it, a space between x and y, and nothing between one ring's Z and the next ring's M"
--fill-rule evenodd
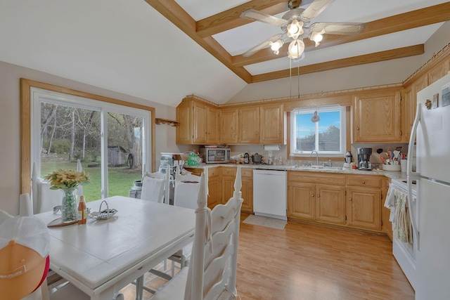
M57 169L90 174L87 201L129 195L143 166L151 169L151 112L32 88L31 161L37 175Z

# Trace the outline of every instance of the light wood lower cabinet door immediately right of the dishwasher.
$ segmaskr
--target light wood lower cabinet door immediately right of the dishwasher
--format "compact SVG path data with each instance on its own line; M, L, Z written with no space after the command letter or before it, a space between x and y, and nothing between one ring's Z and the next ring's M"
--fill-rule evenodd
M316 185L312 183L289 183L288 216L314 220Z

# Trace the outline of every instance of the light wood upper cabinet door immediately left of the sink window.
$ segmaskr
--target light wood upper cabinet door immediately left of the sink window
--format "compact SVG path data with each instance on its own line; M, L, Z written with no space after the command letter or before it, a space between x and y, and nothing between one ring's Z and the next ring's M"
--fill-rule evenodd
M259 141L262 144L284 144L283 104L261 105L259 108Z

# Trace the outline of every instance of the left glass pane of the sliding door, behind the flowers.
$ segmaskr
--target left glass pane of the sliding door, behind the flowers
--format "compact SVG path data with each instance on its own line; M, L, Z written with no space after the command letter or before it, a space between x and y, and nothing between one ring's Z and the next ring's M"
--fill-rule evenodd
M58 169L77 169L77 159L91 176L83 186L86 201L101 198L100 112L41 103L41 177Z

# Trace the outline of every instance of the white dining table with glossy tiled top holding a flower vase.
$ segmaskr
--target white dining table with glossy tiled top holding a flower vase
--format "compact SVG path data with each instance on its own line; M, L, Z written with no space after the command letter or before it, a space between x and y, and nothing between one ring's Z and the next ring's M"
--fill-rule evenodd
M110 219L49 228L51 270L91 300L114 299L120 289L192 242L195 230L193 209L122 196L105 201L117 209ZM98 211L101 202L87 207ZM45 223L60 217L53 211L35 216Z

